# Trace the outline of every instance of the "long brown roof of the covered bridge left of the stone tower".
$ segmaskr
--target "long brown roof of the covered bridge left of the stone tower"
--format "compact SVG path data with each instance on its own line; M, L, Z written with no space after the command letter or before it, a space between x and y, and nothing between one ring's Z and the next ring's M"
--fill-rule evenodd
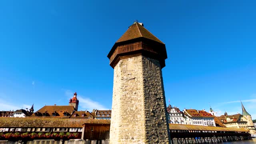
M82 128L83 124L110 124L84 118L0 118L0 128Z

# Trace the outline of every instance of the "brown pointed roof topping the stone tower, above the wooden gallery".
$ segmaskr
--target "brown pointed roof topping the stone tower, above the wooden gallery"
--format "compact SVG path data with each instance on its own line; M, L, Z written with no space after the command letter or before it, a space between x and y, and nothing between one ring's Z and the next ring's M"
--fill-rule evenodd
M116 41L116 43L125 42L135 38L147 38L164 44L161 40L159 40L156 36L144 28L143 24L141 25L138 22L134 22L134 24L132 24L132 26L126 30L126 32Z

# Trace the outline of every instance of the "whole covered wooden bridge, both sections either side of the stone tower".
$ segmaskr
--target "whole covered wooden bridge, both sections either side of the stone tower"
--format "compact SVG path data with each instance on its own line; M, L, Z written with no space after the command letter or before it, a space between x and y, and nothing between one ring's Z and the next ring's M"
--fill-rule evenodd
M217 143L251 139L246 129L169 124L172 144ZM81 118L0 118L0 130L5 133L78 133L83 140L109 139L110 120Z

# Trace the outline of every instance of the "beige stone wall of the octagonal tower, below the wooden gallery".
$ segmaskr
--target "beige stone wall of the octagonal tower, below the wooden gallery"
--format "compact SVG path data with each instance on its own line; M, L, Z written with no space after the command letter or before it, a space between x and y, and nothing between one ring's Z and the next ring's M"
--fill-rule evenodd
M110 144L168 144L162 71L158 60L135 56L114 67Z

